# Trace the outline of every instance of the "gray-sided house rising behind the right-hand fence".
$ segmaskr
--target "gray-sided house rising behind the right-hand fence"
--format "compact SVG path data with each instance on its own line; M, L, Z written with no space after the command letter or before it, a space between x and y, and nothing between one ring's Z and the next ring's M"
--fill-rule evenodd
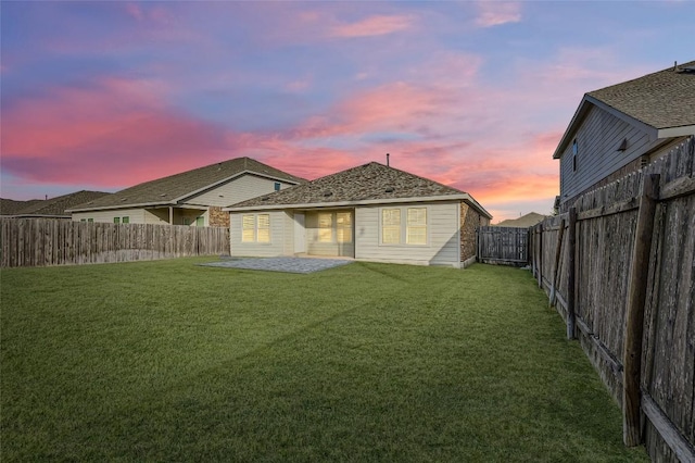
M554 159L556 207L607 185L695 134L695 61L591 91L582 98Z

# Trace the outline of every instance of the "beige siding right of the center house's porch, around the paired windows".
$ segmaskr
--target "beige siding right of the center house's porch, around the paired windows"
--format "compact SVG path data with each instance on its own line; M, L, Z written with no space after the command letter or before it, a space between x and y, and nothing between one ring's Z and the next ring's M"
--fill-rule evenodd
M401 209L405 213L401 226L405 227L407 209L427 210L427 243L381 243L381 211ZM458 265L460 239L458 233L459 202L412 203L383 207L362 207L355 210L355 259L413 263L422 265Z

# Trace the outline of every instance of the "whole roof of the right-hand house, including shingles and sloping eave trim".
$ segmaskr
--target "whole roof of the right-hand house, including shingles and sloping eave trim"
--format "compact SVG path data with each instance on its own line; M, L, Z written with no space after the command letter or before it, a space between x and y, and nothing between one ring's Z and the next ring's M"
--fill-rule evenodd
M694 135L695 61L585 93L553 158L561 157L592 105L654 139Z

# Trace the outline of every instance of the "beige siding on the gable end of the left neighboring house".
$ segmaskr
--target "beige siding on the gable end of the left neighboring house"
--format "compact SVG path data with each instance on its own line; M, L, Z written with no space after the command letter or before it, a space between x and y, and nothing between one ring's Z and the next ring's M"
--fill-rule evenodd
M220 208L226 208L228 205L236 204L237 202L270 193L275 191L276 183L280 184L281 189L286 189L291 186L291 184L283 182L244 174L241 177L236 177L231 182L220 185L212 190L187 199L186 202L189 204L218 205Z

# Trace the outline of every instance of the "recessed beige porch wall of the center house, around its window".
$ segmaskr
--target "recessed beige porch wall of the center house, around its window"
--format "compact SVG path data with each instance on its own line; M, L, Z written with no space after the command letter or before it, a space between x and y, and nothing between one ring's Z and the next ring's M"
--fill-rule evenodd
M350 233L340 226L339 214L351 214ZM325 216L330 216L326 228ZM306 227L306 253L308 255L331 255L352 258L355 255L354 245L354 215L352 210L327 210L319 212L307 212L305 216ZM343 229L340 229L343 228ZM348 235L350 240L348 240ZM341 242L340 238L345 238L346 242Z

